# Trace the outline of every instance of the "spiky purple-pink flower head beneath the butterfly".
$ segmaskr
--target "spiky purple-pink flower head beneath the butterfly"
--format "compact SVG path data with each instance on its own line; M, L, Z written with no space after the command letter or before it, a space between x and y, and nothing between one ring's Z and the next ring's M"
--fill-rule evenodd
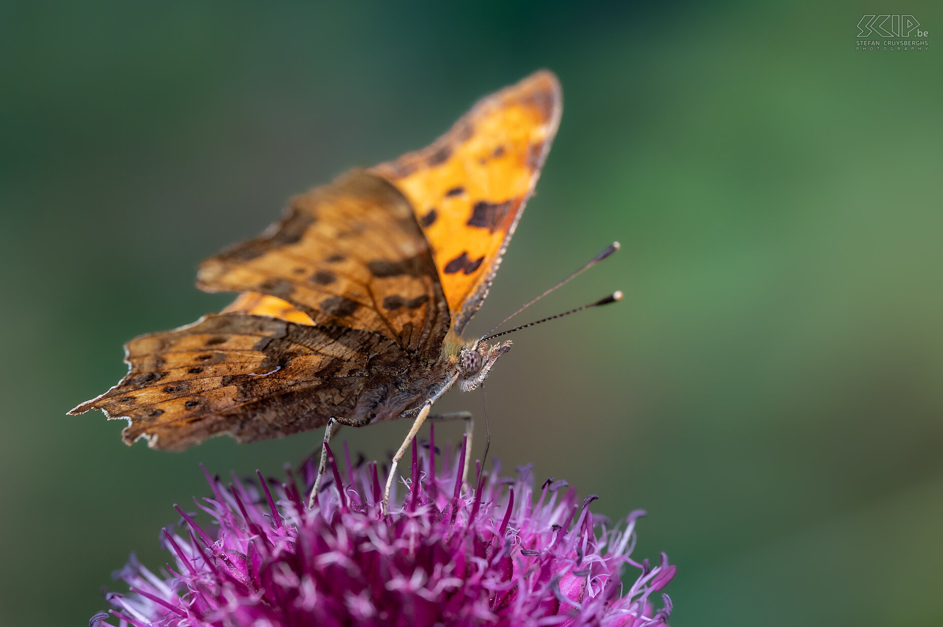
M650 596L675 567L665 553L655 567L629 557L644 512L609 529L589 511L595 496L581 503L563 481L535 489L529 467L462 486L460 452L437 468L414 442L411 478L402 499L390 496L389 516L375 463L352 468L348 458L341 471L332 455L333 482L311 510L290 473L273 487L235 478L223 487L207 474L213 496L197 506L213 524L177 507L181 531L163 530L174 563L157 574L132 555L116 575L129 593L109 593L110 616L90 625L665 624L668 595L658 610ZM631 584L620 581L623 565L637 569Z

